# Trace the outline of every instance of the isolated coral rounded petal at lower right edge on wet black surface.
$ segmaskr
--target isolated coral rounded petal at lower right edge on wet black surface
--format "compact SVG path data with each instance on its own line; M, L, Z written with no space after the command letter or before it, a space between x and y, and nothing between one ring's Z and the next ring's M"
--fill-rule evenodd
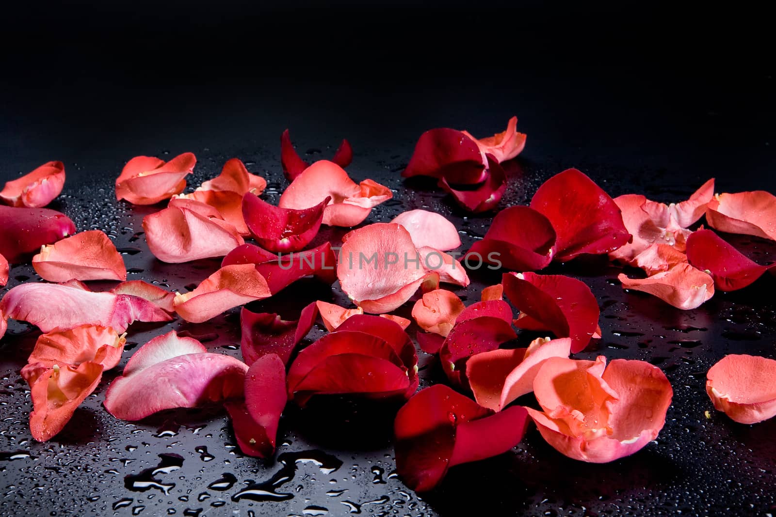
M730 354L706 374L706 393L718 411L742 424L776 416L776 360Z

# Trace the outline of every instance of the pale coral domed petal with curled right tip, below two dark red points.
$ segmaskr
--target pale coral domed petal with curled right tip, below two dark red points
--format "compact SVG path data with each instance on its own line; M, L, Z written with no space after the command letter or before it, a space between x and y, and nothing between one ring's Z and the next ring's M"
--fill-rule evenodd
M356 226L366 219L372 207L392 198L390 189L372 180L356 184L345 169L331 161L310 165L280 196L283 209L309 209L331 198L324 209L323 223L329 226Z

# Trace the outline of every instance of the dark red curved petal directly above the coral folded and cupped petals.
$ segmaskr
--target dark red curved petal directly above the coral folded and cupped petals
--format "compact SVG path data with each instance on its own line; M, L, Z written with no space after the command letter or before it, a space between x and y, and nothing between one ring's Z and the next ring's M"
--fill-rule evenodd
M590 288L559 274L504 274L504 294L518 310L556 337L571 338L571 353L585 349L598 326L598 302ZM521 319L514 321L518 327Z

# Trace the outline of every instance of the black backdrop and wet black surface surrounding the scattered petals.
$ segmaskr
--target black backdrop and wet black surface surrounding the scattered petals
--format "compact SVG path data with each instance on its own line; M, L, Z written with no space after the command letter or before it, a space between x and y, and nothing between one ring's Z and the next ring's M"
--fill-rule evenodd
M131 208L113 198L126 160L190 150L199 158L193 188L240 157L268 179L264 198L276 202L286 185L279 167L286 128L310 160L348 138L355 150L350 174L394 189L397 202L375 209L368 222L425 206L465 232L463 249L483 235L492 214L462 219L466 214L430 184L399 178L417 136L432 127L486 136L518 115L528 143L508 167L502 206L527 202L567 167L579 167L612 196L637 192L663 202L686 198L710 177L717 191L776 191L771 31L764 12L746 5L69 2L3 9L0 180L63 160L68 181L53 207L79 230L101 228L120 248L140 250L125 255L130 279L183 291L218 262L153 259L137 232L143 215L159 207ZM329 230L319 240L338 236ZM728 237L754 260L776 256L773 243ZM37 333L12 322L0 343L0 514L197 515L201 508L199 515L314 515L325 508L345 515L345 501L368 515L773 512L774 422L730 422L713 412L703 384L725 353L774 357L774 278L682 312L624 293L615 280L620 270L605 261L548 272L582 278L601 302L604 338L580 357L650 360L674 385L666 428L633 457L581 464L532 432L514 453L456 467L439 491L418 498L390 475L395 408L327 402L286 412L279 453L320 460L307 451L323 450L342 466L330 473L300 463L293 481L278 488L292 498L233 502L244 483L270 479L280 464L237 453L227 419L215 409L117 422L101 407L115 372L61 435L34 443L26 427L29 390L18 371ZM14 267L7 288L25 277L34 278L29 266ZM469 302L497 281L472 277L468 290L456 291ZM290 318L314 297L347 302L307 282L252 308ZM201 326L135 325L130 348L175 328L214 333L207 346L238 355L236 324L233 310ZM431 357L421 354L421 366L424 384L441 378ZM154 474L160 486L127 489L161 453L180 455L182 467ZM234 474L234 486L209 488L224 472Z

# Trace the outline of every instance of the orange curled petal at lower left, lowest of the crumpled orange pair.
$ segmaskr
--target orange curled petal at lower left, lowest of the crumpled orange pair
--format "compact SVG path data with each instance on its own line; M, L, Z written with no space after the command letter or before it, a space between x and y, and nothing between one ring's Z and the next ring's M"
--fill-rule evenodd
M28 379L33 412L29 431L39 442L46 442L67 424L75 408L84 402L102 378L102 364L86 361L78 367L40 365Z

